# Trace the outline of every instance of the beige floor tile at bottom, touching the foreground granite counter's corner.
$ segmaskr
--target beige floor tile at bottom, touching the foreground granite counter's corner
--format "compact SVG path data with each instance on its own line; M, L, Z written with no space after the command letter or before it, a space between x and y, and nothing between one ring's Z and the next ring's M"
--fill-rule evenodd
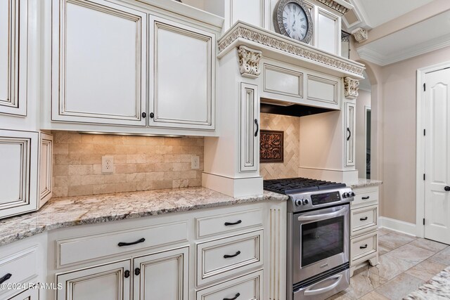
M387 282L387 284L375 289L375 292L390 300L403 299L404 296L418 289L424 282L414 276L403 273Z

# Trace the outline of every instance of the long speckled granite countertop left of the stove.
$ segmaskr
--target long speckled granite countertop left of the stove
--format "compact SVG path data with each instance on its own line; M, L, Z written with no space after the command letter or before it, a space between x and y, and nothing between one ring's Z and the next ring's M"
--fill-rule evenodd
M233 198L201 187L57 198L39 211L0 220L0 246L56 228L287 199L266 190L259 197Z

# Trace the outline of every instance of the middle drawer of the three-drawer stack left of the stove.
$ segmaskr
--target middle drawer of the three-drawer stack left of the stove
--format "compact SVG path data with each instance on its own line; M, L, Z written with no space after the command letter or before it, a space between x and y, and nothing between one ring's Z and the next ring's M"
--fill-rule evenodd
M262 265L262 230L197 244L197 285Z

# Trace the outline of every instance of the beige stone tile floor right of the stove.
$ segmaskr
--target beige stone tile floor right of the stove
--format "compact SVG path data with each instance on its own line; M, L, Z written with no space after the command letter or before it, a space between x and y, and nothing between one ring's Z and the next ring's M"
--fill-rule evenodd
M402 299L450 266L447 244L384 228L378 233L378 266L356 270L350 287L327 300Z

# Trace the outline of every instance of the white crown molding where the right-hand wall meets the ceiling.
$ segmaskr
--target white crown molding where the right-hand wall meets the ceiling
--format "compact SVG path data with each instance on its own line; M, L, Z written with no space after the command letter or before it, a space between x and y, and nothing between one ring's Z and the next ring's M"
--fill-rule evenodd
M417 44L416 46L407 48L404 51L396 52L390 56L384 56L383 54L373 50L371 48L371 44L366 44L356 48L356 51L361 59L383 67L385 65L398 63L401 60L420 56L421 54L439 50L448 46L450 46L450 34L446 34L443 37L438 37L437 39L432 39L431 41L425 41L421 44Z

